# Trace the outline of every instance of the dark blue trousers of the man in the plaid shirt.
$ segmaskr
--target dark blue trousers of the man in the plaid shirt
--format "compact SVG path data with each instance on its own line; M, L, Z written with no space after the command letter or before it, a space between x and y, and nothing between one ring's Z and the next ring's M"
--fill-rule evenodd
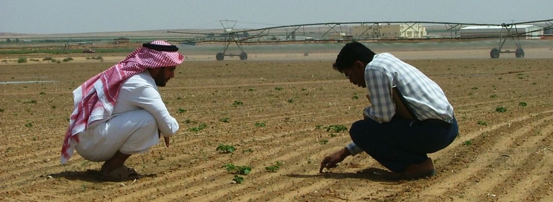
M401 172L407 166L424 162L428 156L450 145L458 134L453 117L450 128L394 116L388 123L373 119L359 120L351 125L349 135L359 148L384 167Z

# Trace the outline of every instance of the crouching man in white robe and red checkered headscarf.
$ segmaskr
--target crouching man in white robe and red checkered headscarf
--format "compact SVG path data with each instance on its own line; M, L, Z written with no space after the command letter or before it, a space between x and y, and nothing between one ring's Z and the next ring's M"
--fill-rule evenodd
M89 79L73 94L74 112L61 150L61 164L74 150L89 161L103 162L101 176L109 181L142 177L124 162L148 152L161 136L179 129L161 100L157 86L174 77L184 56L165 41L144 43L126 59Z

